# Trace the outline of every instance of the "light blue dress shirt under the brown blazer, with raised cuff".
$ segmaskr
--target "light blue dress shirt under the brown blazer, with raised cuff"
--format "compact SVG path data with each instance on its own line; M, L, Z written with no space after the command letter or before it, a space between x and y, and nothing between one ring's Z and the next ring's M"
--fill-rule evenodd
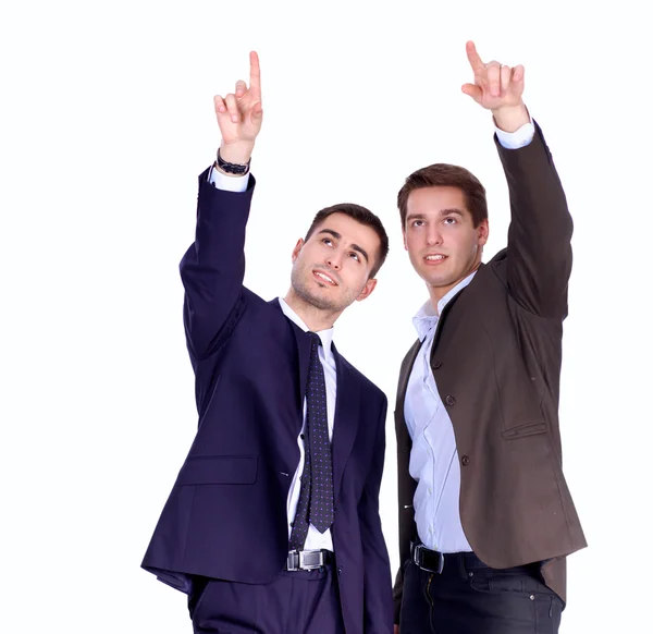
M528 145L533 135L532 121L514 133L496 129L498 142L508 149ZM442 310L475 275L467 276L442 297L438 310L429 300L412 318L422 344L410 371L404 402L406 426L412 440L408 470L417 481L414 498L417 534L427 548L440 552L471 551L471 546L460 522L460 462L454 428L429 362Z

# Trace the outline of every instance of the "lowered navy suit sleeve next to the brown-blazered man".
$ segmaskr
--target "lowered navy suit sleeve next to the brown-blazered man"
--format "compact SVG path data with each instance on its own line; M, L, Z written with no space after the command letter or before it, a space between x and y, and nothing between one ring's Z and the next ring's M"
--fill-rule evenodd
M387 400L383 397L381 420L377 430L372 466L360 501L358 519L362 539L364 571L364 632L384 634L392 632L392 580L390 558L379 515L379 490L385 458L385 414Z

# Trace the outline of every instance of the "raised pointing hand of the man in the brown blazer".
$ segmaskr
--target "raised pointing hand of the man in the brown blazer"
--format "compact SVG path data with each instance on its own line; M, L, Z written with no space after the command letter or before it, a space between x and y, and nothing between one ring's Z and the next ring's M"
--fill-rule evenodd
M463 93L491 110L495 121L504 120L508 127L516 125L517 130L530 121L521 98L525 74L521 64L513 68L496 61L483 63L472 41L467 42L467 59L473 71L473 84L465 84Z

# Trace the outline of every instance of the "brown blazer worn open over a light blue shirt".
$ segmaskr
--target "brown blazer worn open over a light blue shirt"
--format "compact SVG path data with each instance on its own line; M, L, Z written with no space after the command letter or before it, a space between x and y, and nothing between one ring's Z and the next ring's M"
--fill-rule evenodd
M587 546L563 475L558 425L572 223L540 127L526 147L496 146L510 194L508 246L443 310L431 368L454 427L460 519L475 553L493 568L546 562L544 580L565 600L565 556ZM419 348L416 341L402 364L395 410L395 622L417 537L404 401Z

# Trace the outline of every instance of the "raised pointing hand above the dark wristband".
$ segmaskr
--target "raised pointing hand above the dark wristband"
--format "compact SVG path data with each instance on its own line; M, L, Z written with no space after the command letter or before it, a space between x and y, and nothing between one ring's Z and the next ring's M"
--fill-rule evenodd
M246 163L263 121L261 72L256 52L249 53L249 87L241 80L235 93L224 98L217 95L213 101L222 134L220 156L229 162Z

